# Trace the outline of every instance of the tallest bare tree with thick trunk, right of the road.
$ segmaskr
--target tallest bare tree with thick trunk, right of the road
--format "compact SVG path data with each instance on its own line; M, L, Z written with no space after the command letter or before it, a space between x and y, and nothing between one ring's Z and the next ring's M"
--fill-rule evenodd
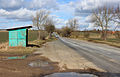
M109 23L111 19L114 17L113 12L114 12L113 8L107 7L99 8L93 12L93 15L95 16L96 20L92 19L92 21L94 20L95 25L101 27L102 29L101 38L103 40L107 39L107 30L109 27Z

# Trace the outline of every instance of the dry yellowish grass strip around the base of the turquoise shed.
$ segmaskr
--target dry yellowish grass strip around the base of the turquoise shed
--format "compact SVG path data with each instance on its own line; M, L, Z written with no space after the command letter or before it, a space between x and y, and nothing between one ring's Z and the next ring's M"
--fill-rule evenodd
M31 42L32 45L36 45L36 42ZM39 47L43 44L43 42L39 42ZM35 51L36 47L28 46L28 47L9 47L8 42L0 44L0 54L10 54L10 55L26 55L31 54Z

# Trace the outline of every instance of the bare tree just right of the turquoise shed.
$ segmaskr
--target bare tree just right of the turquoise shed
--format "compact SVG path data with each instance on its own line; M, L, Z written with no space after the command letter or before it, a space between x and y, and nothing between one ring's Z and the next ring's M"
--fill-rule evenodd
M39 36L38 36L38 39L40 40L40 32L41 30L44 30L45 28L45 24L46 24L46 20L48 19L48 16L49 16L49 13L48 11L46 10L40 10L40 11L37 11L36 12L36 15L33 16L33 25L37 27L38 29L38 33L39 33Z

